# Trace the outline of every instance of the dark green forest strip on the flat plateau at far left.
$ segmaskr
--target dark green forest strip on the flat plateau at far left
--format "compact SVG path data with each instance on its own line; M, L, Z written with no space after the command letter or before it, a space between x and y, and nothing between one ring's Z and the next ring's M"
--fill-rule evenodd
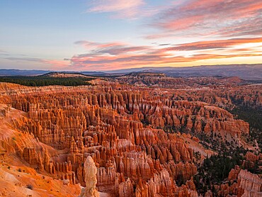
M13 84L21 84L23 86L82 86L91 85L88 81L93 78L85 77L47 77L47 76L36 76L36 77L0 77L0 82L8 82Z

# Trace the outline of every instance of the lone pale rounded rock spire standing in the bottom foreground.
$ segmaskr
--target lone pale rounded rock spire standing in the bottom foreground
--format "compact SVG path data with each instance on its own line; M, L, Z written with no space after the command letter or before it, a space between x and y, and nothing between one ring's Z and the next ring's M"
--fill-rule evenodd
M99 196L98 191L96 190L96 164L93 162L92 157L87 157L86 162L84 162L84 171L85 171L85 181L86 188L81 192L81 197L97 197Z

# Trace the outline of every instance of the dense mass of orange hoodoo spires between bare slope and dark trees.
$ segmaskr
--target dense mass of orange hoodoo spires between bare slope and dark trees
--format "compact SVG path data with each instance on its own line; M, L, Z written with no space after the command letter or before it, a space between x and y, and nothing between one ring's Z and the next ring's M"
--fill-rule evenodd
M249 123L217 104L224 96L205 101L205 92L203 102L185 90L96 83L1 84L1 121L18 139L3 135L1 147L42 174L81 184L82 195L198 196L194 152L208 152L194 133L233 146L249 135Z

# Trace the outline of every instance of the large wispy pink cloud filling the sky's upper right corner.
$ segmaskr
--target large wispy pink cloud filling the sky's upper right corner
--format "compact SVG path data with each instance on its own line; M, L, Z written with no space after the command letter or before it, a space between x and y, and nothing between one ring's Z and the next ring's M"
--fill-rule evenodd
M154 18L151 26L161 30L146 38L174 35L261 35L262 1L188 0L170 6Z

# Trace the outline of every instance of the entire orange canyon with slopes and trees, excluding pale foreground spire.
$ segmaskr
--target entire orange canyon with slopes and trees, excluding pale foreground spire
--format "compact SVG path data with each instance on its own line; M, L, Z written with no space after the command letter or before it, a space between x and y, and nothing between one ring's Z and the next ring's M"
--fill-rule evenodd
M262 84L94 78L0 83L0 196L80 196L89 156L100 196L262 196Z

